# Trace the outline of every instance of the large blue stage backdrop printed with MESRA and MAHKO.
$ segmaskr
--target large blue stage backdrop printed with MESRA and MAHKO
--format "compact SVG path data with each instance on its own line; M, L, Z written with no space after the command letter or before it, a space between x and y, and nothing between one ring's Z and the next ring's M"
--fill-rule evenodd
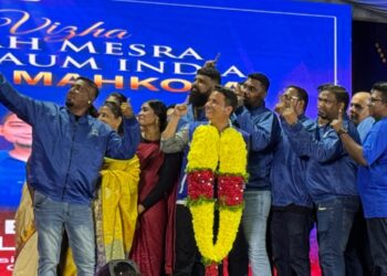
M97 106L112 92L128 96L136 112L147 99L180 103L197 68L218 54L223 85L263 72L271 79L269 106L285 85L295 84L311 93L307 114L314 117L317 85L351 89L351 9L245 0L0 3L0 71L39 99L64 103L69 84L84 75L101 87ZM6 112L0 106L1 117ZM12 142L1 141L0 157L7 158ZM22 178L23 171L0 183L0 201L10 198L10 187L20 191ZM0 221L0 275L13 264L12 215L20 192L12 193Z

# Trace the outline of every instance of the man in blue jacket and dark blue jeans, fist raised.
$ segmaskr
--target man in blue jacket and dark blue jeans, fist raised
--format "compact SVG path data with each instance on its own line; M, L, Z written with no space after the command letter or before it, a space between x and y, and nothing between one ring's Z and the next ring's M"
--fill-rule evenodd
M318 94L318 117L330 123L339 110L346 110L348 93L341 86L326 85ZM293 149L307 156L306 183L316 204L320 263L325 276L345 276L344 251L358 210L357 166L344 150L330 124L318 126L311 135L299 121L294 107L282 113ZM359 141L355 125L345 117L345 127Z

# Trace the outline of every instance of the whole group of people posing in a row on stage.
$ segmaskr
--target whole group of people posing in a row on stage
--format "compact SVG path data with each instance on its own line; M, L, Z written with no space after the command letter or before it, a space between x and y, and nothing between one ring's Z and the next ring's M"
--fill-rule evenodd
M323 275L387 275L387 83L352 99L318 86L315 120L300 86L271 110L266 75L220 84L208 62L188 103L135 116L118 93L96 110L85 77L62 107L0 75L0 102L33 128L15 272L94 275L130 258L145 276L303 276L316 222Z

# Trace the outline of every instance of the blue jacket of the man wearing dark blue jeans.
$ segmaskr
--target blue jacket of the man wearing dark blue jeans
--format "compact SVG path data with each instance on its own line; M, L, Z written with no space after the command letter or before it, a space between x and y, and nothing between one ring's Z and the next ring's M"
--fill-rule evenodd
M353 121L344 118L344 127L357 142L359 136ZM357 164L345 151L336 131L330 126L318 126L311 135L299 121L289 128L287 137L294 150L310 158L306 169L307 189L313 201L337 197L357 197Z

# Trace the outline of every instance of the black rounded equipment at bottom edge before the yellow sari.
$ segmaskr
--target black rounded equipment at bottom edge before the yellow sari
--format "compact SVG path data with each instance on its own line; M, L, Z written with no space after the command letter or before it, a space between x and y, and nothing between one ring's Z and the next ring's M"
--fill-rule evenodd
M97 276L140 276L136 263L132 259L112 259L96 274Z

